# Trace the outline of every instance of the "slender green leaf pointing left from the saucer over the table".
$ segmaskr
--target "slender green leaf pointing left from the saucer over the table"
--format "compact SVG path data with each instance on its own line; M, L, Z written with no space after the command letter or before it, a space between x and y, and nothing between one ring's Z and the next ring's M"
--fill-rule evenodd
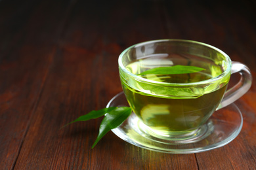
M77 118L73 122L66 124L65 126L68 126L69 124L72 124L74 122L87 121L87 120L91 120L93 118L99 118L100 116L103 116L107 112L111 112L112 110L115 110L115 109L117 109L117 107L108 107L108 108L104 108L104 109L100 109L100 110L92 110L88 114L80 116L79 118ZM63 126L63 127L65 127L65 126Z

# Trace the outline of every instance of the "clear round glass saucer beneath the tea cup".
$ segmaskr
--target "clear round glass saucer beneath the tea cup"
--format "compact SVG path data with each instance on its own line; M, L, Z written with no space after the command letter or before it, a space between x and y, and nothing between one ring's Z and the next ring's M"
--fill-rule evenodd
M123 92L118 93L108 103L107 107L129 106ZM205 123L205 135L200 140L188 143L173 143L159 139L142 130L139 118L132 113L121 126L112 131L124 141L156 152L169 154L192 154L213 150L230 143L240 133L243 126L242 113L233 103L217 110ZM146 125L144 125L146 126Z

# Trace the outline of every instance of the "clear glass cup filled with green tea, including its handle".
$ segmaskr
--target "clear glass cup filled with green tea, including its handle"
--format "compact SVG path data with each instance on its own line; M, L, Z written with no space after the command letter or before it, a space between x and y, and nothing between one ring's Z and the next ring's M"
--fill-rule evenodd
M243 78L226 92L235 72ZM184 40L149 41L127 48L119 56L119 75L125 97L148 133L170 140L198 133L216 109L251 86L245 65L232 64L213 46Z

